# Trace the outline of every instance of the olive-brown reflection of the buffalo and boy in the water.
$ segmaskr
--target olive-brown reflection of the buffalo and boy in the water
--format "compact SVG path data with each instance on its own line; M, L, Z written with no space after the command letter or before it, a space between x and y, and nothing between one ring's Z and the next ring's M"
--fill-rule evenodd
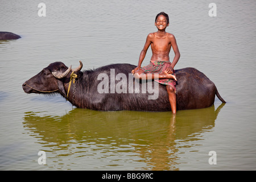
M52 160L63 156L79 158L77 166L87 165L89 169L99 166L126 169L125 164L133 163L135 169L139 166L140 169L178 170L179 148L188 147L184 143L198 139L196 134L211 130L223 106L216 110L214 106L184 110L176 115L73 109L59 117L27 112L23 125L42 144L40 150L51 154ZM88 158L97 160L88 166ZM107 164L100 164L103 161Z

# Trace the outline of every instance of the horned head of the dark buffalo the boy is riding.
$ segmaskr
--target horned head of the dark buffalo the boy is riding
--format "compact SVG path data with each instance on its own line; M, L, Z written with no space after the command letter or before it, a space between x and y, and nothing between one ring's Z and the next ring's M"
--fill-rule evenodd
M67 97L64 83L68 82L71 72L77 72L82 69L82 62L79 62L80 65L76 69L72 69L72 66L68 68L61 62L49 64L38 75L24 82L22 85L24 92L43 94L59 92L64 97Z

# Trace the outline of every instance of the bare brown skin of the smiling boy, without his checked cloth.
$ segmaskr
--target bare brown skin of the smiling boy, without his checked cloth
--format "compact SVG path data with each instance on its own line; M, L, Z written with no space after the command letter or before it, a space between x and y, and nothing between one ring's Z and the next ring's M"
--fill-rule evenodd
M150 33L147 36L146 43L141 51L141 54L139 56L139 62L138 66L132 71L135 78L147 80L147 73L144 73L144 71L141 69L142 61L144 60L144 57L146 56L148 47L151 46L152 50L152 56L151 60L161 60L161 61L169 61L170 57L170 51L171 47L174 49L175 57L172 61L170 67L164 71L164 73L159 74L152 74L150 77L151 79L157 78L157 79L173 79L176 80L176 77L171 75L174 73L174 67L177 64L177 61L179 61L180 58L180 52L179 48L177 47L175 36L166 32L166 28L169 26L169 23L167 23L166 16L159 15L155 22L156 28L158 28L157 32ZM171 104L172 113L176 113L176 94L174 92L174 88L170 85L166 85L168 98Z

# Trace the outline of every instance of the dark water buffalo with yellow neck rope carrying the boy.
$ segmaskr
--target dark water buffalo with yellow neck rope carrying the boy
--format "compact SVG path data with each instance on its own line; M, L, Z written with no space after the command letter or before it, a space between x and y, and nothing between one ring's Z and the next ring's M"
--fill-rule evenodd
M26 93L60 93L61 96L80 108L104 111L171 111L166 86L151 81L152 85L153 82L155 84L154 88L158 88L155 90L158 93L154 99L149 99L152 92L143 92L143 84L148 86L147 83L140 82L139 88L134 86L138 81L133 78L131 82L130 78L131 70L135 67L131 64L110 64L81 72L81 61L80 66L76 69L72 69L71 66L68 68L61 62L55 62L24 82L22 86ZM73 76L73 72L76 73L75 76ZM209 107L214 103L215 94L222 102L225 102L214 83L197 69L177 69L175 73L177 110ZM104 77L108 79L105 82L103 81ZM129 77L129 81L125 80L125 77ZM123 92L115 90L115 86L119 86L118 88Z

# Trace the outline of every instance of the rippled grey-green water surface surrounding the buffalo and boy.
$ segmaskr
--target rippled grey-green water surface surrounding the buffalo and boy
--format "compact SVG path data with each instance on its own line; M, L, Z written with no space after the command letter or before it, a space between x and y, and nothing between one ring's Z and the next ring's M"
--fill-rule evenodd
M255 1L3 0L0 31L0 169L2 170L255 170ZM155 15L170 16L181 57L227 101L170 112L77 109L60 96L26 94L22 84L54 61L85 69L137 64ZM143 65L151 57L148 49ZM171 50L170 57L174 57ZM46 164L38 164L38 152ZM210 165L209 151L217 164Z

